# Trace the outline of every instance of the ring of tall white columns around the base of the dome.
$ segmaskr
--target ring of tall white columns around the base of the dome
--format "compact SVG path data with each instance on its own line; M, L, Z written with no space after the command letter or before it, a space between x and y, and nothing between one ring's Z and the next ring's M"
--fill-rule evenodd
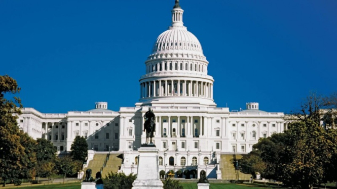
M140 98L201 97L213 99L213 83L194 80L155 80L140 83Z

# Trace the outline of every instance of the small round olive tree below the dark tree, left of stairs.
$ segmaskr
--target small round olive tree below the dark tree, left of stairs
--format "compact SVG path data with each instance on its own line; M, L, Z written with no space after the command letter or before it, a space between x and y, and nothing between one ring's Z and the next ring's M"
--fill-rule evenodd
M67 174L74 174L77 172L76 165L70 156L58 158L56 161L56 166L59 174L63 175L63 183Z

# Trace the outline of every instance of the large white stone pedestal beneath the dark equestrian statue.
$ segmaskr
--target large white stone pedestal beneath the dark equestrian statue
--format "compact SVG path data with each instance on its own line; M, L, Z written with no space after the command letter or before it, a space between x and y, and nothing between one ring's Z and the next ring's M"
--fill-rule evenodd
M159 178L158 151L156 147L138 149L138 174L132 189L163 189L163 182Z

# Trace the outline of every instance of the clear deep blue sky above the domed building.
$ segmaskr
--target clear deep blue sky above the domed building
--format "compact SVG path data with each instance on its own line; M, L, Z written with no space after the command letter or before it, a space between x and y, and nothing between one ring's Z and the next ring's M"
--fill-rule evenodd
M139 78L174 0L0 1L0 75L24 107L86 111L134 106ZM218 107L297 109L337 91L337 1L180 0L202 44Z

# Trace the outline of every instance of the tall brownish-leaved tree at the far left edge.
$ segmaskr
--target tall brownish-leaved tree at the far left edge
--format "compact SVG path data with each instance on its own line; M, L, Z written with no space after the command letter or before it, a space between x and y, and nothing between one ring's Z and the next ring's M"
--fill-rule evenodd
M8 179L19 177L22 168L20 158L25 154L16 121L22 108L21 100L15 97L18 92L20 88L15 79L8 75L0 76L0 177L4 186ZM7 100L6 93L11 93L13 99Z

